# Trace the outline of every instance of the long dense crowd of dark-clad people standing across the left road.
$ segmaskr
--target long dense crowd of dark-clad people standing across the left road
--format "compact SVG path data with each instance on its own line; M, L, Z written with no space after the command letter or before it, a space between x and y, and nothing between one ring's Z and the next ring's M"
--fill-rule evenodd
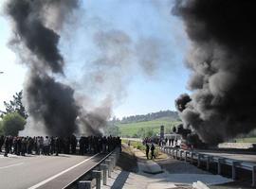
M79 139L75 135L70 137L0 136L0 152L4 151L6 157L9 153L18 156L106 153L120 144L120 138L112 136L82 136Z

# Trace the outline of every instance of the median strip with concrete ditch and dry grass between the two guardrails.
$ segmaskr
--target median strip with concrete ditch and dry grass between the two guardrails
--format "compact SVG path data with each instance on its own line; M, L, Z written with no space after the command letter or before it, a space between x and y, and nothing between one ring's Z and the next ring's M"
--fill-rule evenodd
M192 164L180 163L161 152L154 161L147 160L143 150L122 144L122 153L119 166L108 179L108 185L102 188L192 189L192 183L197 180L208 185L230 181Z

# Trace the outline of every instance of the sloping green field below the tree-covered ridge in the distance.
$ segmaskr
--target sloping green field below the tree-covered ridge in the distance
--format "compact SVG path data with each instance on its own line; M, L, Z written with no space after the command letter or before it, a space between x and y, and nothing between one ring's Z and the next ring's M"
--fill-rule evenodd
M119 127L120 135L122 137L137 137L141 129L152 130L154 134L158 134L160 132L161 125L165 127L166 133L170 133L172 128L180 123L180 121L174 121L168 117L162 117L153 121L144 121L130 124L117 124L117 126Z

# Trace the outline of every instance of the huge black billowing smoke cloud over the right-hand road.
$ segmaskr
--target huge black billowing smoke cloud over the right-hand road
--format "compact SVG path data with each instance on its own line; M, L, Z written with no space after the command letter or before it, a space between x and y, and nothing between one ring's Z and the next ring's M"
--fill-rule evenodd
M192 48L191 99L176 100L182 120L217 144L256 128L255 1L176 1ZM185 102L185 104L184 104Z

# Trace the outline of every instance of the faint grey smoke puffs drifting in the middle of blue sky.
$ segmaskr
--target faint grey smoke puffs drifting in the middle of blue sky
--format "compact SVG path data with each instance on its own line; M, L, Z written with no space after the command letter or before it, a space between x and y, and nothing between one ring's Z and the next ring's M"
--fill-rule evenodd
M103 94L114 106L126 96L127 86L137 73L155 77L157 66L166 55L161 39L134 39L120 29L97 30L93 43L99 54L95 56L96 59L85 62L81 88L83 90L86 86L88 94L93 92L94 96L101 95L101 99Z

